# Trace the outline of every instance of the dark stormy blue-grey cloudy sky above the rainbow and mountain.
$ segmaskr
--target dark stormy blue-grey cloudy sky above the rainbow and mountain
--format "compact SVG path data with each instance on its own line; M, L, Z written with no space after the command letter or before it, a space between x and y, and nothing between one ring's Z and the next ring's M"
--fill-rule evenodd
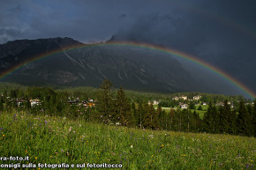
M0 44L137 41L215 65L256 92L255 0L1 0Z

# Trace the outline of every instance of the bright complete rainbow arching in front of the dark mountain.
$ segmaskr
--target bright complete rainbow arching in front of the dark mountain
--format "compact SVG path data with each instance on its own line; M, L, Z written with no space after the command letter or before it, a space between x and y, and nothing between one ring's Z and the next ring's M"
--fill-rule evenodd
M177 51L176 49L171 49L171 48L164 48L161 46L157 45L152 45L152 44L146 44L146 43L135 43L135 42L127 42L127 41L114 41L114 42L106 42L106 43L98 43L98 44L80 44L80 45L75 45L71 46L68 48L58 48L56 50L50 51L47 54L41 54L41 55L36 55L29 60L20 63L19 65L16 65L8 70L5 70L0 74L0 81L3 80L4 78L8 77L11 75L13 72L19 71L21 68L26 66L28 63L34 63L36 61L39 61L43 58L49 57L51 55L56 55L59 53L62 53L64 51L72 50L72 49L79 49L79 48L93 48L93 47L130 47L130 48L143 48L143 49L149 49L149 50L154 50L154 51L159 51L168 55L175 55L177 57L183 58L187 61L191 61L192 63L197 63L201 67L206 68L207 70L211 70L214 72L216 75L219 77L225 79L228 81L231 85L236 86L239 90L244 92L246 95L248 95L251 99L255 98L255 93L252 92L251 89L237 81L237 79L232 78L228 73L225 73L224 71L216 68L214 65L211 65L207 62L204 62L200 60L199 58L196 58L192 55L185 54L184 52Z

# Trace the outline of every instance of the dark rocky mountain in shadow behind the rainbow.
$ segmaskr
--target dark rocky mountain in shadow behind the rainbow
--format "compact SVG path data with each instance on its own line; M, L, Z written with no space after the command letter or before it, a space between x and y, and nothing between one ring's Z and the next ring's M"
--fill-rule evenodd
M83 48L68 49L79 46ZM220 81L220 87L207 84L207 79L200 78L208 76L200 77L200 70L193 72L196 69L186 65L190 64L157 51L105 43L82 44L71 38L18 40L0 45L0 72L19 68L2 79L6 82L99 87L108 78L116 87L139 91L234 92Z

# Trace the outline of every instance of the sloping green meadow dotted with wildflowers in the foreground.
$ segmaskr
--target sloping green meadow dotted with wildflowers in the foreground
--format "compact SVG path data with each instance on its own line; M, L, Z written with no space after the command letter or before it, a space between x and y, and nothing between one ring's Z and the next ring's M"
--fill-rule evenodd
M74 121L1 113L0 157L28 156L28 161L19 161L27 165L110 163L122 164L123 169L255 169L255 137L128 129L88 123L80 117ZM15 162L0 160L0 164Z

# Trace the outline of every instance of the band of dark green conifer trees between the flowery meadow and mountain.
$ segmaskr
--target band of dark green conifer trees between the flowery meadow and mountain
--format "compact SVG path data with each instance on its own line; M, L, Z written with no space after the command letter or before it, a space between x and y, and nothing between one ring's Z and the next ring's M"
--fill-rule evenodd
M18 106L16 98L22 97L25 102ZM209 100L209 107L200 119L199 113L192 108L194 103L189 103L188 109L170 109L163 111L165 104L176 105L174 101L163 103L154 107L145 99L131 100L124 89L120 87L113 90L109 80L104 80L95 94L95 107L83 105L69 105L67 100L79 98L87 100L87 92L54 91L49 87L28 87L26 91L11 90L0 96L0 111L11 113L14 110L28 111L34 115L66 116L70 118L83 118L88 122L117 124L121 126L136 127L141 129L163 129L184 132L226 133L233 135L256 136L256 107L245 105L240 99L238 107L231 108L228 100L224 105L216 107L216 99ZM30 99L40 99L41 105L32 107Z

